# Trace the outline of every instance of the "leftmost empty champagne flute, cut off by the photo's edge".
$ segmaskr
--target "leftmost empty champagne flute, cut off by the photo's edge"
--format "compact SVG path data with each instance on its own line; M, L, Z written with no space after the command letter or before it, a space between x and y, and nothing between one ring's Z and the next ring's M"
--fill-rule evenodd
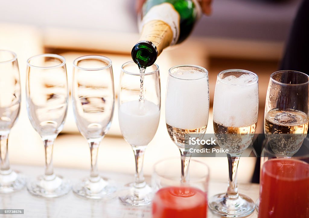
M0 193L17 191L25 185L25 178L11 170L8 154L8 137L19 115L20 100L17 56L0 50Z

